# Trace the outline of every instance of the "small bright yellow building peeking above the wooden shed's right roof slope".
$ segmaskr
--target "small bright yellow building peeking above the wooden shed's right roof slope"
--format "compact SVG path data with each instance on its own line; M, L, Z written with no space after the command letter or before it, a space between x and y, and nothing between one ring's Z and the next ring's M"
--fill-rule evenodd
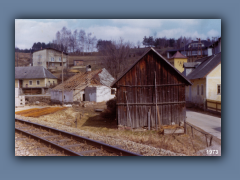
M182 55L180 52L176 52L169 60L168 60L178 71L181 73L184 71L183 64L187 62L187 57Z

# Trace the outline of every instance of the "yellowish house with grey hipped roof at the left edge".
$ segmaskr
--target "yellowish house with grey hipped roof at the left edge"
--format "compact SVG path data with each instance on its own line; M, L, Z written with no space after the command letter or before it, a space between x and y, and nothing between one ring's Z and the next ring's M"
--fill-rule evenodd
M19 94L44 94L57 85L57 77L43 66L15 67L15 88Z

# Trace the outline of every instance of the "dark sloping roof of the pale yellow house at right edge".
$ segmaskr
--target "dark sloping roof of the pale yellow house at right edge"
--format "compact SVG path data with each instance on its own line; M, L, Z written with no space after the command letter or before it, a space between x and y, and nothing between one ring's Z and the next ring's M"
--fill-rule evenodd
M221 64L221 52L212 56L198 59L195 62L200 62L201 64L187 75L188 79L206 77L218 64Z

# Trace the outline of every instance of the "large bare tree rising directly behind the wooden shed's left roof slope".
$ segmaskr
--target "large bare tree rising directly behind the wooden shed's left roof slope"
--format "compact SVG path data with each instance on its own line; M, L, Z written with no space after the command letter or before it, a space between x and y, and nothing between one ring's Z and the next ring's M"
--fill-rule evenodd
M118 78L129 64L131 64L129 62L129 54L132 47L132 43L124 42L122 38L107 44L104 51L103 63L114 78Z

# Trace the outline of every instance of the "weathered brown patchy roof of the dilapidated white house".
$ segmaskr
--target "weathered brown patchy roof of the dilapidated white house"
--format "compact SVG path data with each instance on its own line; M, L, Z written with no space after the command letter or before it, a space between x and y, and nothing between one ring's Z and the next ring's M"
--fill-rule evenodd
M53 88L53 90L82 90L89 85L104 85L109 87L114 80L115 79L111 76L111 74L109 74L108 71L103 68L100 70L76 74L69 78L67 81Z

